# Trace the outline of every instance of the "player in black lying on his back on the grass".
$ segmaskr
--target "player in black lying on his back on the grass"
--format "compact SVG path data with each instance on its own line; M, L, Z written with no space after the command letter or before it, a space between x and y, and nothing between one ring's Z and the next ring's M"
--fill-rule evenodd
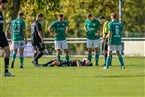
M65 66L93 66L93 64L87 59L83 58L83 60L71 60L71 61L66 61L66 60L57 60L53 59L46 64L40 65L42 67L53 67L53 66L60 66L60 67L65 67Z

